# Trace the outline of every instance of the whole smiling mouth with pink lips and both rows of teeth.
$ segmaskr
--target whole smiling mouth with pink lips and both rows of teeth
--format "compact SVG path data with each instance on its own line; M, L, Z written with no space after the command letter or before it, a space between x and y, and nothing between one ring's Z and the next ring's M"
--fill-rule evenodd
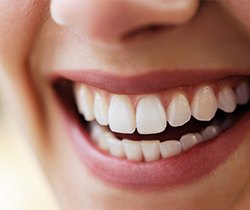
M127 90L119 79L96 82L102 86L83 78L60 74L52 84L77 153L110 183L143 189L190 183L225 161L247 134L247 76Z

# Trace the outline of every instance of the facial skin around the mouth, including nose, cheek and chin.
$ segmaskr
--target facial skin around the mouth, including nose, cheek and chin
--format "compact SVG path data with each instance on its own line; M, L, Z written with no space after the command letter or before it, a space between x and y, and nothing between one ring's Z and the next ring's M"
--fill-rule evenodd
M0 0L4 108L24 129L62 207L249 209L250 132L224 164L189 185L154 192L116 188L91 175L78 159L69 137L61 132L62 114L44 75L76 67L124 75L161 67L250 69L250 2L218 0L199 7L200 2L190 0L178 10L167 1L163 12L157 5L160 0L149 7L150 1L101 2ZM135 35L135 29L155 23L174 27Z

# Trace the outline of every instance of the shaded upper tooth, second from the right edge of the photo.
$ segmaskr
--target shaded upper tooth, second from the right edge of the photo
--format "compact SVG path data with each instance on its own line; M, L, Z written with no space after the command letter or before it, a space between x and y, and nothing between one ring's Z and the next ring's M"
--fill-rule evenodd
M237 106L236 95L231 87L224 87L218 94L218 106L221 110L231 113Z

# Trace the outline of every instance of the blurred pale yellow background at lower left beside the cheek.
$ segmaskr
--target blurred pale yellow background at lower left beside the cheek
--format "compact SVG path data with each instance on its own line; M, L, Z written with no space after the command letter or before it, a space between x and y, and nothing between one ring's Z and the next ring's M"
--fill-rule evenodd
M0 100L0 210L59 210L28 142L7 115Z

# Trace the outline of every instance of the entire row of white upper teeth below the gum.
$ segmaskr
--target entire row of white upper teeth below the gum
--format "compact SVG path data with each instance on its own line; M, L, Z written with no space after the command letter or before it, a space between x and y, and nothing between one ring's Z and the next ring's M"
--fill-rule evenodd
M119 133L154 134L165 130L167 122L174 127L188 122L191 116L197 120L211 120L217 109L231 113L237 103L246 104L250 98L248 82L241 82L235 89L224 86L215 94L211 85L200 86L189 102L186 94L175 92L167 107L156 94L141 96L136 106L129 96L111 94L109 99L103 91L92 91L83 84L75 85L78 110L87 121L109 125Z

